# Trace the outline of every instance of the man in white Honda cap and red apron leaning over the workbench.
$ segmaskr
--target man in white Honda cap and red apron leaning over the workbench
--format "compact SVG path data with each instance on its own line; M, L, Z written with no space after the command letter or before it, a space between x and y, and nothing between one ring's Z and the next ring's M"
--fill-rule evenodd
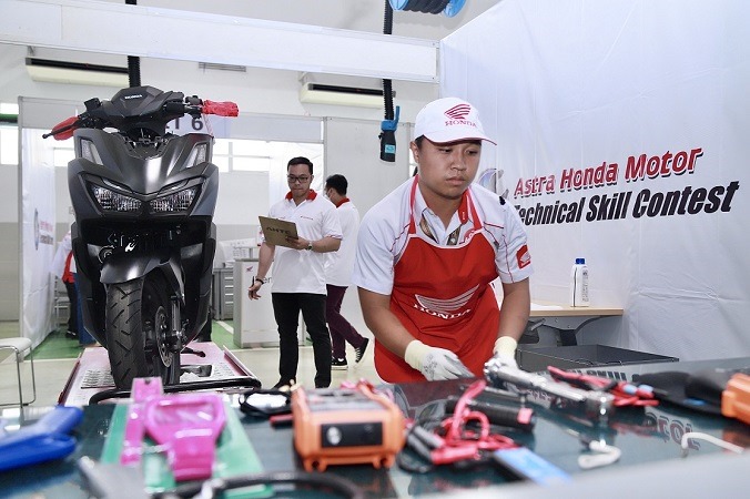
M427 104L409 144L417 174L362 221L352 282L388 383L483 376L496 355L515 365L533 273L515 208L473 183L483 142L477 110ZM490 283L499 276L503 306Z

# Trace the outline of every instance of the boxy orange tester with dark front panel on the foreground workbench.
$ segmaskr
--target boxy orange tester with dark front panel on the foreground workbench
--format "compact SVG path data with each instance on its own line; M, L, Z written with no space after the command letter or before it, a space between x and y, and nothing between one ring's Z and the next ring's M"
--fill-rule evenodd
M294 447L305 470L328 465L393 466L404 446L404 416L384 395L356 388L292 393Z

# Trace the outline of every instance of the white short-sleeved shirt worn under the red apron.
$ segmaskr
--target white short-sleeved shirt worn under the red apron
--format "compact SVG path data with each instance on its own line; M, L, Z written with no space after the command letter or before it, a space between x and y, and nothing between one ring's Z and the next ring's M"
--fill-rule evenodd
M404 182L363 217L352 274L354 285L382 295L391 294L394 266L401 258L408 235L413 182L414 179ZM475 183L468 187L468 194L483 225L482 235L495 248L495 266L500 281L516 283L529 277L534 269L527 248L526 231L516 208L508 202L500 203L497 194ZM437 242L428 237L419 226L423 215ZM430 244L447 246L448 236L459 226L458 241L463 241L466 232L474 227L470 211L468 215L468 222L462 225L458 213L455 213L448 227L445 227L439 217L427 207L419 189L416 190L416 235ZM440 269L436 268L435 272L439 273Z

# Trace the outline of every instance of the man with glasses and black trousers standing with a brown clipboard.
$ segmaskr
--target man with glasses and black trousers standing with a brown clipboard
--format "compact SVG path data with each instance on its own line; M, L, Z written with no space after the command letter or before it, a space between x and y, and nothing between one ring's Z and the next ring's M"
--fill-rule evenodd
M274 388L296 383L300 352L297 326L300 310L313 342L315 388L331 385L331 335L325 322L325 253L338 249L342 240L336 207L310 189L313 163L306 157L293 157L286 165L290 192L271 206L268 216L294 222L296 238L286 240L290 247L261 244L257 275L247 294L257 299L257 292L273 263L271 301L278 326L278 374Z

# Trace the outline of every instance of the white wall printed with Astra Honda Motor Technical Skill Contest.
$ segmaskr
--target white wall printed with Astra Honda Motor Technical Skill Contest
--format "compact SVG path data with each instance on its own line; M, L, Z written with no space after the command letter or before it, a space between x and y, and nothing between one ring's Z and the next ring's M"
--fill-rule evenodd
M581 343L750 354L749 18L740 0L505 0L443 40L440 94L498 140L482 167L527 223L533 298L567 301L586 257L591 304L625 309ZM634 179L641 155L655 174ZM586 170L609 176L568 189ZM545 206L559 218L535 221Z

